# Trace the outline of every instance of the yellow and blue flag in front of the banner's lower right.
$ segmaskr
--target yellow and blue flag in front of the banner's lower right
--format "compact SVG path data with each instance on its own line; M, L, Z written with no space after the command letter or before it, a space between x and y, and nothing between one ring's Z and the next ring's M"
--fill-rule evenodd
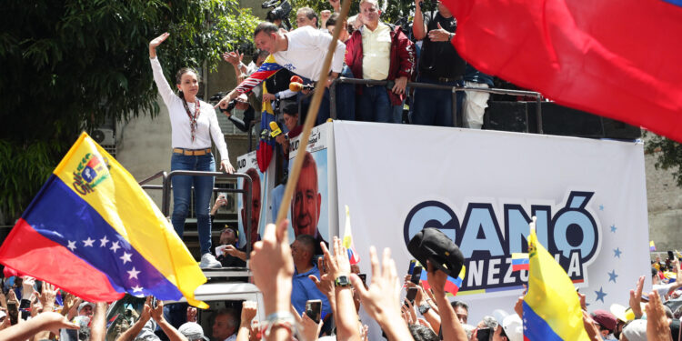
M566 271L537 242L535 228L528 237L530 269L523 303L524 340L589 340L573 282Z

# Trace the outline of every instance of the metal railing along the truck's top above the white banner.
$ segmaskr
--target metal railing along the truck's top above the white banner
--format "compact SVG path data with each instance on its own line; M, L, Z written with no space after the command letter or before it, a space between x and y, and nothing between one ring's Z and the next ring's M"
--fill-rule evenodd
M376 81L373 79L359 79L359 78L346 78L338 77L329 86L329 116L332 119L336 119L336 85L337 84L354 84L354 85L380 85L386 86L389 81ZM435 85L430 83L419 83L419 82L407 82L406 87L414 87L421 89L433 89L433 90L450 90L452 92L452 118L453 124L458 127L462 127L462 120L457 119L457 100L456 94L461 91L476 91L496 95L523 95L536 97L536 116L537 116L537 133L543 134L542 132L542 108L540 103L542 102L542 94L535 91L524 91L524 90L508 90L508 89L498 89L498 88L480 88L480 87L466 87L466 86L453 86L453 85ZM528 113L526 113L526 123L528 124ZM528 125L526 125L526 133L528 132Z

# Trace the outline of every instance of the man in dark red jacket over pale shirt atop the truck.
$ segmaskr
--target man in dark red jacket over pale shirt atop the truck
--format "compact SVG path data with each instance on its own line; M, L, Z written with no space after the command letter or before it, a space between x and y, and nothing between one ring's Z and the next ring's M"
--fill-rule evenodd
M357 78L388 80L389 85L357 87L356 119L393 122L393 106L402 105L415 66L415 49L400 27L379 21L376 0L361 0L360 15L365 25L346 42L346 65Z

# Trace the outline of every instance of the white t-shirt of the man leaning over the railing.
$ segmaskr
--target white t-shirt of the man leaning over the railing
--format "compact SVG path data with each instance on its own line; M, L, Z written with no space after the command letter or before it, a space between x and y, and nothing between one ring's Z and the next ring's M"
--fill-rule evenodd
M310 26L296 28L286 33L285 36L288 39L288 46L286 51L273 54L276 63L296 75L304 76L312 81L319 80L332 36ZM345 53L346 45L336 41L336 50L331 65L333 72L341 73Z

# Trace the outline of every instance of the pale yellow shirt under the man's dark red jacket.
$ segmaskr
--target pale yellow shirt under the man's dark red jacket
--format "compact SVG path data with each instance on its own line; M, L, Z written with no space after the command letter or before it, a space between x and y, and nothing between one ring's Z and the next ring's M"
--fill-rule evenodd
M362 28L362 77L384 80L391 65L391 28L379 23L374 31Z

